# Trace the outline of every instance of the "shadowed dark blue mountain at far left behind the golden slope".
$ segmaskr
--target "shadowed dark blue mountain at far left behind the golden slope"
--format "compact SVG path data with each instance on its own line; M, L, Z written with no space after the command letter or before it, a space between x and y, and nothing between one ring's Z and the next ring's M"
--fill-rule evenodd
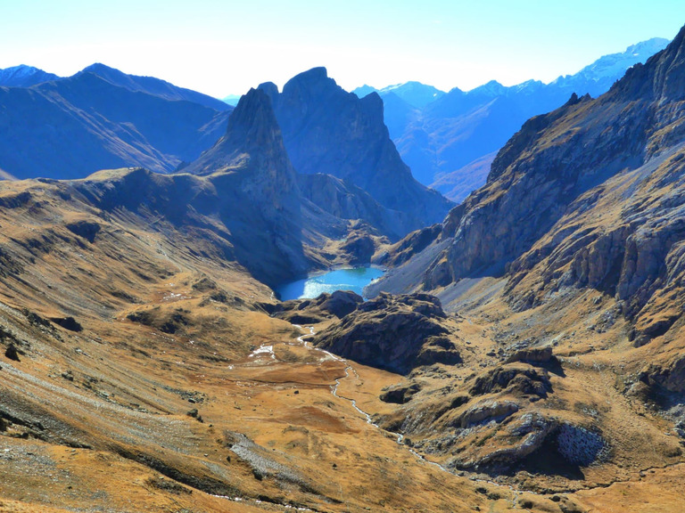
M233 108L152 77L95 64L73 77L0 88L0 169L81 178L103 168L169 172L226 130Z

